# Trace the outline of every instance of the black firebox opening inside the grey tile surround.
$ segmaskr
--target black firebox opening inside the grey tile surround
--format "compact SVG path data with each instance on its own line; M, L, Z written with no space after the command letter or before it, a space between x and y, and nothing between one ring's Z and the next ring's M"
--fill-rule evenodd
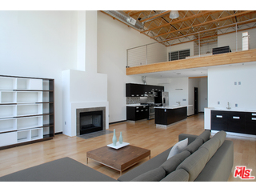
M90 111L80 113L80 135L103 130L103 111Z

